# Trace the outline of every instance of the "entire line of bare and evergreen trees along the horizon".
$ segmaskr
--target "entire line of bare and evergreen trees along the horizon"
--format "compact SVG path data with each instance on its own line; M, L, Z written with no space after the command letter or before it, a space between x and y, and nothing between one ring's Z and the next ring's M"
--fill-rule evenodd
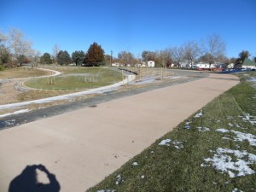
M32 42L26 40L25 35L18 29L9 29L7 34L0 31L0 67L3 66L21 66L22 63L40 62L43 64L58 63L60 65L68 65L73 63L76 66L101 66L111 65L118 62L124 65L135 65L137 63L154 61L156 67L176 65L180 67L185 62L193 64L195 62L212 63L235 63L239 64L245 58L250 56L247 50L242 50L238 57L228 58L225 55L226 45L222 38L216 34L201 39L200 42L188 41L180 46L168 47L160 50L143 50L138 57L134 56L130 51L120 51L117 57L105 54L102 46L96 42L90 44L89 49L75 50L69 55L67 50L62 50L57 44L52 49L52 55L49 53L40 54L39 51L32 49ZM254 61L256 58L254 57Z

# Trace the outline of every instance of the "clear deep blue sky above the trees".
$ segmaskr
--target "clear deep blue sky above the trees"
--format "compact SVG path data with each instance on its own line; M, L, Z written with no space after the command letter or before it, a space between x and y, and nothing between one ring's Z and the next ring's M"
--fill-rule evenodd
M243 49L256 56L255 0L1 0L0 28L9 27L42 54L55 44L72 54L96 42L106 54L138 56L215 33L229 57Z

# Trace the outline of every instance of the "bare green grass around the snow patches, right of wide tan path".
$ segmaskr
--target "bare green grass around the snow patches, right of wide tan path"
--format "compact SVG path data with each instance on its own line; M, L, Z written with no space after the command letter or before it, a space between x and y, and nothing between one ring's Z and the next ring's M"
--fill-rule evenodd
M254 73L249 74L251 76ZM256 174L244 177L230 177L212 166L202 167L205 158L212 157L217 148L230 148L233 150L247 150L256 154L256 147L248 142L238 142L223 139L224 136L233 137L234 134L221 133L216 129L251 133L256 136L256 129L249 122L244 122L241 115L254 113L251 108L256 90L251 84L242 80L241 84L228 90L211 103L202 108L203 115L189 119L178 125L174 131L168 132L143 153L138 154L116 172L106 177L101 183L88 191L114 189L115 191L242 191L256 190ZM246 101L246 102L245 102ZM192 121L190 129L185 129L186 122ZM233 126L230 126L232 124ZM236 125L241 126L240 128ZM197 127L207 127L210 131L198 131ZM172 139L183 143L183 148L160 146L163 139ZM154 153L153 153L154 152ZM231 155L232 156L232 155ZM236 157L233 155L233 159ZM132 166L137 162L138 166ZM256 171L256 162L250 167ZM121 179L116 184L117 176ZM144 178L142 178L144 176ZM110 190L111 191L111 190Z

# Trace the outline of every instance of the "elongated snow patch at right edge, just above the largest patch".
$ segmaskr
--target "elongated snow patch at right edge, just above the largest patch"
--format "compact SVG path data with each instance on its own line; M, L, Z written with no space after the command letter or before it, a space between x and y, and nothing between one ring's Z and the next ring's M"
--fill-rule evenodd
M229 131L229 130L226 130L226 129L218 129L216 131L223 132L223 133L233 132L233 133L236 134L236 137L234 137L235 142L247 141L248 143L250 143L250 145L256 146L256 136L254 136L251 133L243 133L241 131L235 131L235 130ZM223 137L223 138L224 139L230 139L229 137Z

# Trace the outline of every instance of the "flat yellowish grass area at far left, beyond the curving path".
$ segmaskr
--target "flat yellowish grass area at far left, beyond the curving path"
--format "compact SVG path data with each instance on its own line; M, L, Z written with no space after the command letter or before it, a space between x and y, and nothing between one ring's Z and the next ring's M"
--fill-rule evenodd
M16 78L28 78L47 75L48 72L38 70L37 68L28 69L26 67L6 68L4 71L0 71L0 79L16 79Z

